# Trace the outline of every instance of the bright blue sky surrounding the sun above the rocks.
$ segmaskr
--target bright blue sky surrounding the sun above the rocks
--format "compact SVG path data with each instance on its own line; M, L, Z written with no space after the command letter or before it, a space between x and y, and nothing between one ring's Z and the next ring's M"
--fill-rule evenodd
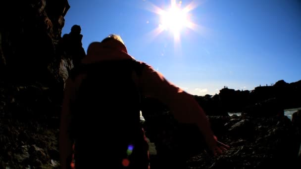
M301 80L300 0L177 0L197 29L183 28L180 39L161 23L154 7L170 0L69 0L62 35L80 25L83 47L118 34L128 52L165 78L196 94L224 86L249 89L279 80ZM180 5L181 4L181 5Z

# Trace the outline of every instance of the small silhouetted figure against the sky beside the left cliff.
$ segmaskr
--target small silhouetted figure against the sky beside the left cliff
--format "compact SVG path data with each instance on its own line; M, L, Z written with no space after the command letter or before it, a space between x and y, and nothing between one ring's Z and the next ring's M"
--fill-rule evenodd
M86 55L82 46L82 38L81 27L79 25L73 25L71 32L64 34L60 42L61 50L71 56L74 67L78 66Z

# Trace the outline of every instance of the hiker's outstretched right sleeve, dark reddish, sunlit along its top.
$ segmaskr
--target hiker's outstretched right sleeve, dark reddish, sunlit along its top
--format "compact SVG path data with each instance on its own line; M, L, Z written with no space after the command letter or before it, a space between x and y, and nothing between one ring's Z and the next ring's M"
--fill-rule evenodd
M162 74L149 65L143 70L140 80L146 96L157 98L166 104L180 123L196 124L205 137L208 147L211 150L216 147L216 140L208 119L191 94L168 82Z

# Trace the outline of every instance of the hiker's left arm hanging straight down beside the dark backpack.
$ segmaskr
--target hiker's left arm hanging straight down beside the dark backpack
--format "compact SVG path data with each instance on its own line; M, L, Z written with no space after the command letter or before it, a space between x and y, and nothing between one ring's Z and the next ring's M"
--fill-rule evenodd
M61 169L69 168L69 161L72 156L72 141L69 137L70 118L70 102L72 97L72 81L67 80L64 91L64 100L62 105L60 128L59 128L59 155Z

